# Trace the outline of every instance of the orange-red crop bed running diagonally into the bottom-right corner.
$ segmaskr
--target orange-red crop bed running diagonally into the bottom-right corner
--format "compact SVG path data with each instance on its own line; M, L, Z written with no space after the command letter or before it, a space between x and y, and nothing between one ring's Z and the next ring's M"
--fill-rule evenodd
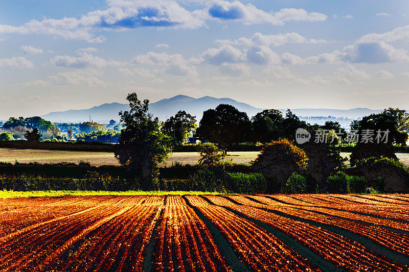
M376 270L381 268L389 271L404 271L407 269L405 265L375 254L353 239L320 227L287 218L285 215L279 216L259 208L236 205L226 199L223 200L223 197L220 196L209 195L203 197L213 203L223 203L226 209L264 222L268 226L293 237L339 268L347 270Z

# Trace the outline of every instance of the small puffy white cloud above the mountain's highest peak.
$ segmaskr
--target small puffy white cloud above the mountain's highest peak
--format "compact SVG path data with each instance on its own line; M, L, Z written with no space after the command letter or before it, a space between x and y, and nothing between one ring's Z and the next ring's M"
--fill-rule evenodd
M195 66L188 66L187 60L180 54L148 52L133 58L132 63L164 66L163 71L173 76L197 76Z

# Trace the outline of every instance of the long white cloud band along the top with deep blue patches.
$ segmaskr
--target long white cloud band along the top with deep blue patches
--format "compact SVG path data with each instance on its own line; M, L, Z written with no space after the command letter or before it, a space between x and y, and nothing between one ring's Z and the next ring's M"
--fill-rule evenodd
M100 30L126 31L141 27L158 29L197 29L206 26L207 20L234 20L244 24L270 23L280 26L286 21L324 21L327 16L304 9L281 9L266 12L252 4L239 1L216 0L205 3L206 8L189 11L173 0L106 0L108 8L90 11L80 17L61 19L32 19L20 26L0 25L0 34L39 34L59 36L68 40L104 42L97 36Z

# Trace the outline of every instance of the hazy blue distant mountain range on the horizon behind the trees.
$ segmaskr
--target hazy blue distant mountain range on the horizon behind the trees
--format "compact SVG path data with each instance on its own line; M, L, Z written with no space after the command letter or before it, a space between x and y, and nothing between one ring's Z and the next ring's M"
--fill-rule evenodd
M194 98L186 95L176 95L171 98L163 99L155 103L149 104L149 110L160 120L166 120L168 117L175 115L179 110L184 110L196 116L199 121L202 117L203 111L214 109L219 104L229 104L236 107L239 111L244 111L249 117L256 115L263 109L255 108L251 105L235 101L231 98L215 98L212 96L203 96ZM50 112L41 117L52 122L83 122L88 121L89 116L94 121L100 123L107 123L109 120L119 120L118 112L129 109L128 104L109 103L102 104L90 109L83 110L67 110ZM284 113L286 110L281 109ZM350 110L336 110L336 109L291 109L297 116L334 116L346 117L349 119L357 119L372 113L378 113L380 110L371 110L368 108L355 108Z

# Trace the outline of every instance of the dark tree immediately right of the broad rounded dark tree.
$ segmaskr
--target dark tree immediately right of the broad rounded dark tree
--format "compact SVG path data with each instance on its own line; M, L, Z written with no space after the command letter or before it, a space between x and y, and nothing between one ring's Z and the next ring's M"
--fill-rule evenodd
M270 142L283 137L284 117L281 111L263 110L252 117L252 132L250 140L254 142Z

